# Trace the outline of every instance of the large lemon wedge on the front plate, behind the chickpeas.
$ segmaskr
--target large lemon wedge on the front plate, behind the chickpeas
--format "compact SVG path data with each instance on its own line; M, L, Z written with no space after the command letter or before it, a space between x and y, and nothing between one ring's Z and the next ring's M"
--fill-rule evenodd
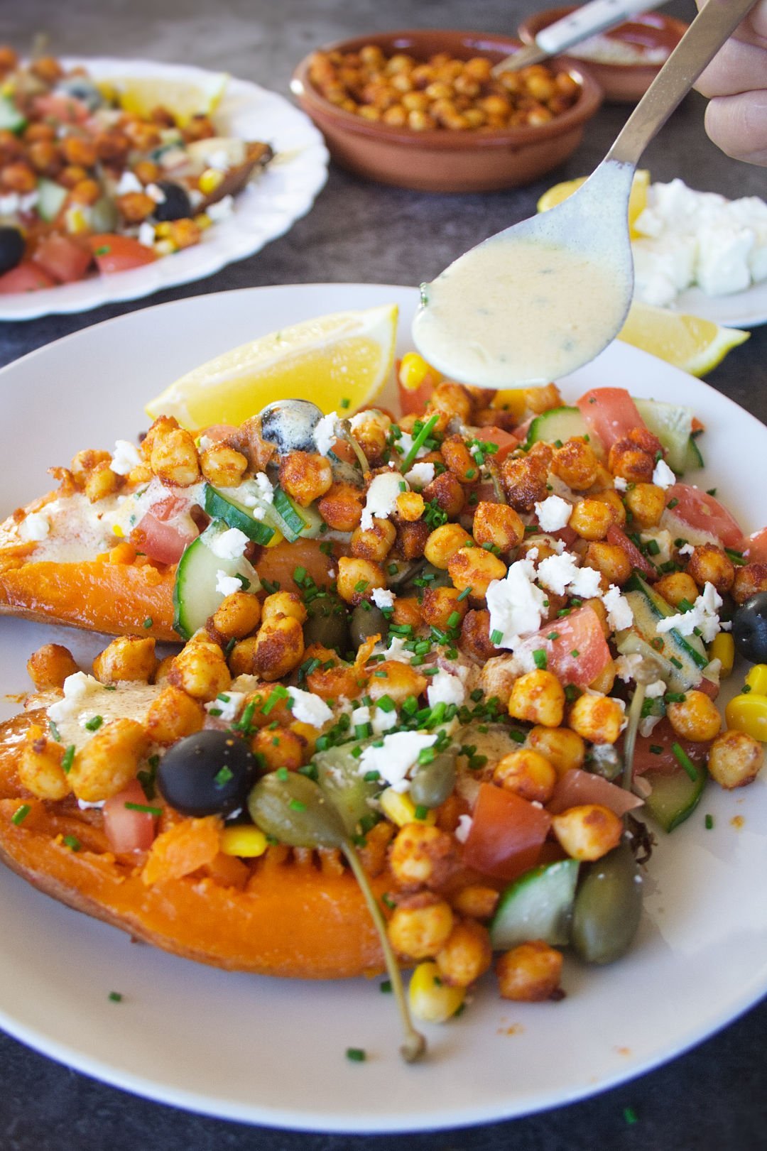
M396 304L305 320L233 348L172 383L146 405L183 427L242 424L274 399L311 399L350 416L392 372Z

